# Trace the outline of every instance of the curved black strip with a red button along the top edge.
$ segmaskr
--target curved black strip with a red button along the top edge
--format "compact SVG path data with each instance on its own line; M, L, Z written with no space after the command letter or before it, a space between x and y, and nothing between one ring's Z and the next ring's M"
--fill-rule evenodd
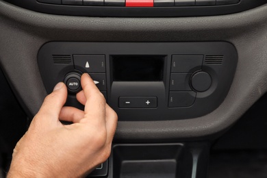
M22 8L48 14L73 16L211 16L255 8L266 0L6 0Z

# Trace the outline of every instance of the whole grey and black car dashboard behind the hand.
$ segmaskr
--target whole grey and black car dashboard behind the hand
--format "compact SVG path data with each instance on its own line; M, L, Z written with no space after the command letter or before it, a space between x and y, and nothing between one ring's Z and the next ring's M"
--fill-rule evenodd
M207 177L210 150L238 147L223 136L267 90L266 3L0 0L1 70L28 123L59 81L83 110L81 74L94 79L118 127L88 177Z

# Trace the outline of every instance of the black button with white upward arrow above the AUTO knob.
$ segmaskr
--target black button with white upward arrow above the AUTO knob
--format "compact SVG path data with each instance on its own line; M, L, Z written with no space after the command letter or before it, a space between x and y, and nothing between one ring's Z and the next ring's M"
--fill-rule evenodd
M73 55L73 60L83 73L105 73L105 55Z

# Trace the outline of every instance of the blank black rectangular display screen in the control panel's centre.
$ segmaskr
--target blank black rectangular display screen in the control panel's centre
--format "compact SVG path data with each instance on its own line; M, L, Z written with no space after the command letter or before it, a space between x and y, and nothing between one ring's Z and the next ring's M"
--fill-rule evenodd
M164 55L112 55L114 81L162 81Z

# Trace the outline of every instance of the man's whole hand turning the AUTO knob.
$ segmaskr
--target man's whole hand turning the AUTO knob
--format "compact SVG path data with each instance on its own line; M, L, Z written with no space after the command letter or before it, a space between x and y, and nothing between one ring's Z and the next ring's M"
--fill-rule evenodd
M16 144L8 177L81 177L110 155L117 115L89 75L81 76L81 111L63 107L67 89L55 86ZM71 121L62 125L60 120Z

